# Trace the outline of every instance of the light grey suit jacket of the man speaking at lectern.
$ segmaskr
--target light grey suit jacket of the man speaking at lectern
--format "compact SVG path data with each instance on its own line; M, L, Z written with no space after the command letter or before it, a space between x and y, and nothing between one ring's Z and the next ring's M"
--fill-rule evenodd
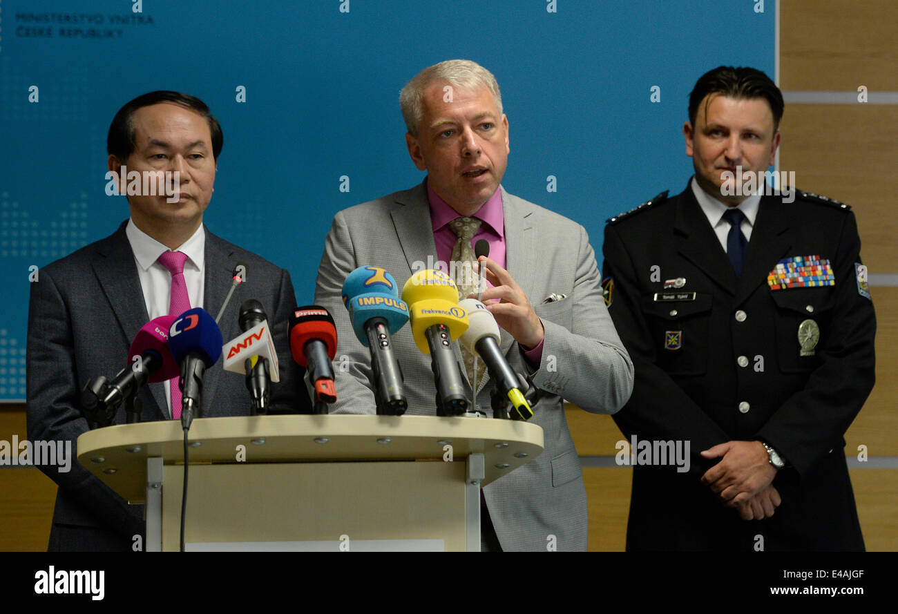
M559 550L585 550L585 487L562 399L590 412L612 414L629 399L633 365L605 309L585 229L504 189L502 206L507 269L540 316L545 340L538 370L526 364L505 330L500 347L512 367L533 374L541 389L533 423L543 429L545 452L484 487L484 496L504 550L545 551L550 535ZM335 370L339 403L332 413L375 411L369 353L352 332L340 296L346 276L372 265L391 272L401 287L413 271L427 266L428 256L437 259L426 183L334 217L315 288L315 303L330 310L337 323L337 355L349 357L348 373ZM551 293L567 298L543 303ZM407 414L434 415L429 356L418 351L408 325L393 335L393 346L405 375ZM453 347L461 360L458 344ZM485 378L477 398L489 415L490 388Z

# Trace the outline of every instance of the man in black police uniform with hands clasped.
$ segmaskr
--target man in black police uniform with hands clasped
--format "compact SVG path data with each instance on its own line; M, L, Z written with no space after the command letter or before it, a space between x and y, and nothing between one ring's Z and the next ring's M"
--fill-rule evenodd
M750 193L782 112L760 71L703 75L683 126L695 176L605 228L636 370L614 420L691 452L688 471L634 467L628 549L864 549L842 436L874 382L867 268L849 206Z

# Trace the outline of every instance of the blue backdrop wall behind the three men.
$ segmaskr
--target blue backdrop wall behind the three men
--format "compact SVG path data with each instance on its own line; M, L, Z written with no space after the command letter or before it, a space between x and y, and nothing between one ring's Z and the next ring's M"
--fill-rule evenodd
M304 304L333 215L423 178L405 147L401 87L425 66L473 59L502 88L503 185L584 224L601 263L607 217L686 185L696 79L721 64L773 75L776 6L762 4L4 0L0 399L25 396L30 268L128 216L125 198L104 191L106 133L135 96L172 89L207 102L225 147L206 224L289 269Z

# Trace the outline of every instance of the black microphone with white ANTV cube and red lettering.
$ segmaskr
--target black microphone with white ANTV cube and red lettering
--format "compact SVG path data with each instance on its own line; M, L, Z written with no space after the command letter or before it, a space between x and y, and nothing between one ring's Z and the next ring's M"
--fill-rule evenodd
M225 371L246 375L253 416L268 412L270 382L280 382L277 350L270 328L262 303L250 299L240 306L240 329L243 334L222 346Z

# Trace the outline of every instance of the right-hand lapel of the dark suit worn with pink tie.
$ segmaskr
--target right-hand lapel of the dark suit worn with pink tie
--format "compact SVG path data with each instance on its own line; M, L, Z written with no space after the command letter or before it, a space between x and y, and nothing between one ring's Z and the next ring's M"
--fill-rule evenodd
M218 310L225 303L225 296L231 289L233 281L233 268L236 263L232 262L232 251L227 247L225 241L222 241L214 234L206 229L206 249L205 249L205 268L206 272L203 277L203 309L209 312L213 318L218 315ZM252 271L246 272L247 284L252 282ZM222 318L219 321L219 328L222 329L222 336L227 341L233 338L238 332L233 327L237 326L237 319L240 310L240 303L237 303L237 293L232 296L232 300L228 303ZM233 334L232 334L233 333ZM218 382L221 379L224 369L209 368L203 376L203 412L204 416L208 415L208 408L211 408L215 399L216 390L218 390Z

